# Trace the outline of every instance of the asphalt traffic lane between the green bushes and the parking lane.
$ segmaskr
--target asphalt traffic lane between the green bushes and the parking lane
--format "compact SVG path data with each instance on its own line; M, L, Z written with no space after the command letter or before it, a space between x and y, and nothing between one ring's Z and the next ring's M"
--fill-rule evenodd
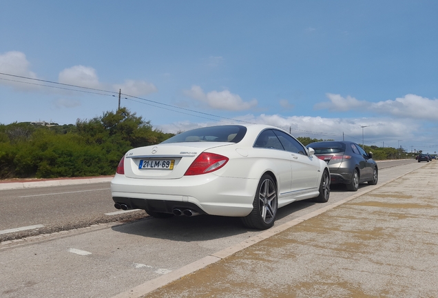
M413 159L382 161L379 170L412 162ZM334 187L333 191L340 189L343 190ZM116 212L108 182L0 190L0 197L0 241L147 217L143 210ZM1 233L29 226L39 228Z

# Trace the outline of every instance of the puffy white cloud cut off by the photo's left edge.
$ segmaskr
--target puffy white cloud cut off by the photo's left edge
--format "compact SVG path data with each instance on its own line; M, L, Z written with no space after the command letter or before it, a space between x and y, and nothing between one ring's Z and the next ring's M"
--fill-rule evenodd
M0 54L0 72L6 74L14 74L20 77L29 77L32 79L36 79L36 74L30 71L30 63L28 59L26 59L25 54L22 52L11 51L6 52L4 54ZM30 90L34 88L38 88L35 85L27 84L27 83L17 83L14 81L26 81L25 79L9 77L9 76L1 76L5 80L0 80L0 84L12 86L16 90ZM14 81L7 81L14 80Z

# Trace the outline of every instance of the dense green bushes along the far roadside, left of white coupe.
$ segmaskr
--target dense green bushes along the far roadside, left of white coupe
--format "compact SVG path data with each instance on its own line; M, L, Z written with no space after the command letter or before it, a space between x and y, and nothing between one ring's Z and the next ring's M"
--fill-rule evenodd
M112 175L127 150L171 136L126 108L76 125L0 125L0 179Z

